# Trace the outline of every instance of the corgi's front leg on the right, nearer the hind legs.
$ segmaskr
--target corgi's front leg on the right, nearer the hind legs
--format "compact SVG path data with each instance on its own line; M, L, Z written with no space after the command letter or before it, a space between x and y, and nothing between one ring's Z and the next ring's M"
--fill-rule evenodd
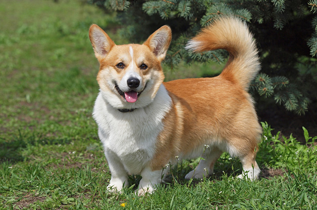
M146 193L153 193L157 185L162 182L162 170L152 170L145 167L141 171L142 179L140 180L138 195L143 196Z

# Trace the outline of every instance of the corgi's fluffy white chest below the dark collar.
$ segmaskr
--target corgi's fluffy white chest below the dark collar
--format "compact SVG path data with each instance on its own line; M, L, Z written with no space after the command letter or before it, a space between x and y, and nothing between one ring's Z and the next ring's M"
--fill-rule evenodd
M145 108L122 113L106 103L100 93L94 107L94 119L106 155L120 159L130 173L139 173L155 154L156 140L163 129L162 119L171 99L162 86L154 101Z

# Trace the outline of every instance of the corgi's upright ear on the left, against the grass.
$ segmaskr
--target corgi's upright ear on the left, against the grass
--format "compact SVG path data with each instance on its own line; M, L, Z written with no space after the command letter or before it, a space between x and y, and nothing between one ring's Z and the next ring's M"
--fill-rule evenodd
M106 57L110 49L115 45L106 32L96 24L93 24L89 29L89 39L93 45L95 56L99 61Z

